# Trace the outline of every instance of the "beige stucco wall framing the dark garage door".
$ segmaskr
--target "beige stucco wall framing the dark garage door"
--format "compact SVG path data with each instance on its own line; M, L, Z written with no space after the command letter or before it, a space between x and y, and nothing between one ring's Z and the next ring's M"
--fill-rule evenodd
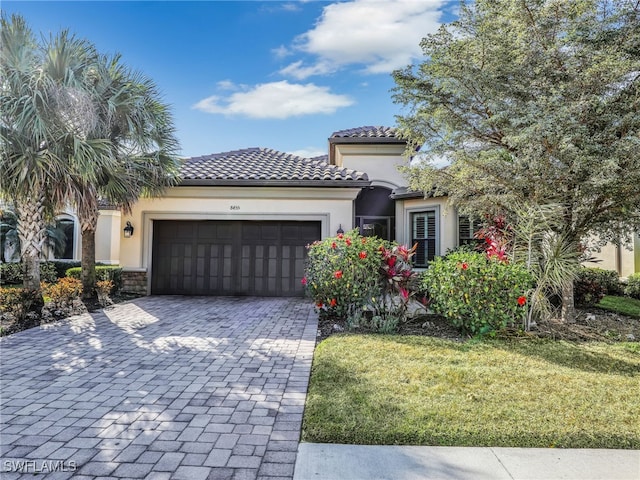
M175 187L162 198L141 199L118 226L120 264L144 271L151 265L154 220L300 220L321 222L322 237L353 225L357 188ZM127 221L134 226L124 238Z

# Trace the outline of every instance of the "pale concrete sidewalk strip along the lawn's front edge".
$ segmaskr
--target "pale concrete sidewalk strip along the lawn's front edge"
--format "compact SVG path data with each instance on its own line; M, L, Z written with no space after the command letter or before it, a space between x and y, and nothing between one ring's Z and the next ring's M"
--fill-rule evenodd
M301 443L294 480L639 480L639 450Z

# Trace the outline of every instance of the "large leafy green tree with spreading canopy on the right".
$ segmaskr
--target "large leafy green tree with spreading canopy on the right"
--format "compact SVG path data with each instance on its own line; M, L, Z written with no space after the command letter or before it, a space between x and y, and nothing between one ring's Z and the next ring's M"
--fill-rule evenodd
M393 74L408 152L423 147L412 188L516 219L514 205L559 205L562 248L640 228L638 2L477 0L421 47Z

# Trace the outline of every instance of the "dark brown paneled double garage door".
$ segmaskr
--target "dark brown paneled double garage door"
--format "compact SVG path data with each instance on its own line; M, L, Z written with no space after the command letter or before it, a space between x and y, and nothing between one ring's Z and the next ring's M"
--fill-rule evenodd
M299 296L320 222L153 222L151 293Z

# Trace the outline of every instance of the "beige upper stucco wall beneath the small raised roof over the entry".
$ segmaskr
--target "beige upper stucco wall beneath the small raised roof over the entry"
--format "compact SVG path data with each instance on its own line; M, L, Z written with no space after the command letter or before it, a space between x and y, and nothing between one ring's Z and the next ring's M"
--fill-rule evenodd
M398 171L408 165L403 157L405 146L400 145L335 145L335 164L365 172L373 185L394 189L406 186L407 181Z

